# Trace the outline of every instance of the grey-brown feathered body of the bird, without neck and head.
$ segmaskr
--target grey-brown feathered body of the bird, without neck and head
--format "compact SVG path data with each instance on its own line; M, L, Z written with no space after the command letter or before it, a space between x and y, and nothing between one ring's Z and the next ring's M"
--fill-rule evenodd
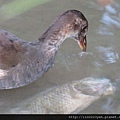
M56 49L42 42L26 42L5 31L0 33L5 39L0 41L1 89L29 84L52 66Z

